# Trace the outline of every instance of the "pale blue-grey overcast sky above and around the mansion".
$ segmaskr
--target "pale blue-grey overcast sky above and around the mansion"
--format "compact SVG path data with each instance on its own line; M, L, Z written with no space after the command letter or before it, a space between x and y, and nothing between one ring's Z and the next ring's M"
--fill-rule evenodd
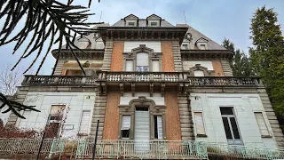
M251 45L248 38L250 19L257 7L266 5L268 8L274 8L279 14L281 27L284 25L284 0L100 0L100 3L97 1L92 0L91 12L95 12L96 15L92 16L90 21L99 21L101 12L101 21L111 25L130 13L139 18L146 18L155 13L173 25L185 23L186 20L188 25L218 44L222 44L225 37L229 38L236 48L244 52L248 52L248 46ZM87 0L75 2L87 5ZM3 24L3 20L0 22ZM53 46L53 49L55 48L56 45ZM0 52L0 71L1 65L14 64L21 54L17 52L12 55L11 44L1 46ZM28 67L31 61L32 59L25 60L20 66ZM50 53L41 74L51 74L54 61ZM39 63L36 64L38 66Z

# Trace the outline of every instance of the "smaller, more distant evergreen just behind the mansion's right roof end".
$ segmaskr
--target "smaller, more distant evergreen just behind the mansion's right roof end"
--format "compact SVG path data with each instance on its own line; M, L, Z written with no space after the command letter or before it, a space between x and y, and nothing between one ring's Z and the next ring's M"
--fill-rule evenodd
M234 44L229 39L224 39L223 46L233 52L233 60L231 63L233 76L251 76L252 69L248 56L239 49L235 50Z

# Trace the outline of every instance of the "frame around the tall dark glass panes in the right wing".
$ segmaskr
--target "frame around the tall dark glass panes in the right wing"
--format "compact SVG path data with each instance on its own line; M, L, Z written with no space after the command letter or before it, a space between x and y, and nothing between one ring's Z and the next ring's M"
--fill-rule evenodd
M222 114L221 114L221 108L232 108L233 115L222 115ZM230 145L242 145L242 144L243 144L243 141L242 141L242 138L241 138L241 130L240 130L240 127L239 127L238 120L237 120L237 117L236 117L236 114L235 114L235 110L234 110L234 109L235 109L235 108L234 108L233 106L219 106L219 111L220 111L220 115L221 115L221 119L222 119L222 124L223 124L223 128L224 128L224 132L225 132L225 124L223 123L223 117L227 118L227 120L228 120L228 124L229 124L230 132L231 132L231 135L232 135L232 138L233 138L233 139L232 139L233 142L230 142L230 141L229 141L229 140L231 140L231 139L227 139L227 138L225 138L225 139L227 140L228 144L230 144ZM238 129L239 136L240 136L240 142L237 142L237 141L236 141L236 140L239 140L239 139L235 139L235 138L234 138L233 127L232 127L232 123L231 123L231 120L230 120L231 117L233 117L234 120L235 120L236 127L237 127L237 129ZM225 134L225 136L226 136L226 134Z

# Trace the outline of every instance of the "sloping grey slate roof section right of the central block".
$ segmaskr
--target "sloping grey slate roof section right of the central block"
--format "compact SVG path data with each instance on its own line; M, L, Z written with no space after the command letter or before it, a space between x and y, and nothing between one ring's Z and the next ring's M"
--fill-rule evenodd
M216 42L214 42L213 40L211 40L208 36L205 36L203 34L201 34L201 32L199 32L198 30L186 25L186 24L177 24L176 27L179 28L188 28L187 33L191 33L192 34L192 41L189 44L189 48L190 49L197 49L195 46L196 41L198 41L200 38L204 38L206 40L208 40L208 50L226 50L225 47L223 47L220 44L217 44Z

